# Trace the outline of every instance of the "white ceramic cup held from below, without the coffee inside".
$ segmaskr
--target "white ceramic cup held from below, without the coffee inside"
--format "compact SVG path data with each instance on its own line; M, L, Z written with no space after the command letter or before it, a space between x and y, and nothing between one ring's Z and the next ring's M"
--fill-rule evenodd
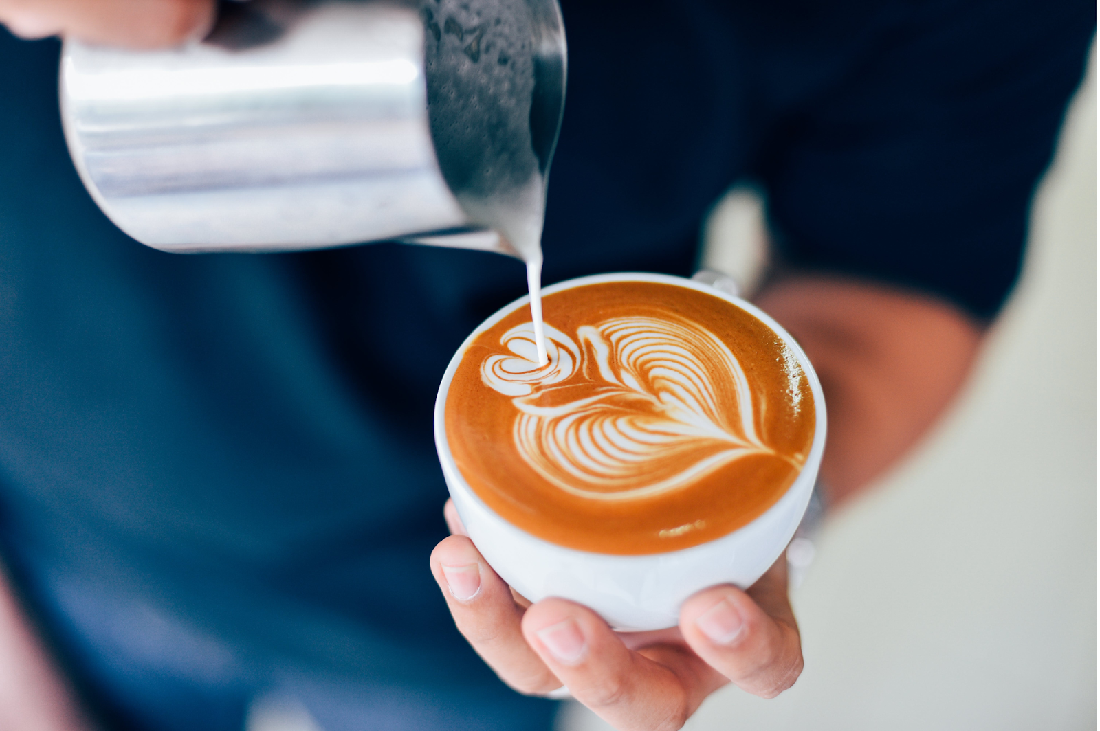
M706 292L748 311L771 328L798 356L813 392L816 412L810 456L794 483L762 516L732 533L701 545L646 555L612 555L578 551L527 533L496 512L470 488L447 444L444 411L454 372L466 348L508 313L528 306L522 297L474 330L443 375L436 398L436 448L447 487L471 540L485 561L512 587L531 601L562 597L591 607L616 630L638 631L673 627L680 605L696 591L716 584L751 586L780 556L794 535L810 502L825 448L825 401L821 383L799 344L774 320L745 300L708 285L659 274L602 274L543 289L543 295L605 281L656 281Z

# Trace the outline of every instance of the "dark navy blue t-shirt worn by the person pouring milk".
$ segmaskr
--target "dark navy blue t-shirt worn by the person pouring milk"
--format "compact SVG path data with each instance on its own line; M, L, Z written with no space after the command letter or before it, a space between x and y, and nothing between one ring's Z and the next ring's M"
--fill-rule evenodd
M1068 0L563 12L547 283L690 275L708 207L750 177L788 265L978 318L1018 276L1096 22ZM521 264L146 248L77 178L57 56L0 31L0 538L87 696L132 729L240 728L280 688L330 731L548 728L427 566L436 388Z

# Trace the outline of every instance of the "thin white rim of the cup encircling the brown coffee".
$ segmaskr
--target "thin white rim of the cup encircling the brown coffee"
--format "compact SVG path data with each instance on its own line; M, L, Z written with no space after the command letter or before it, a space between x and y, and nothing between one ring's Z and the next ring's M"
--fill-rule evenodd
M516 300L513 300L512 302L505 304L503 308L501 308L499 310L491 314L488 318L486 318L480 325L474 328L473 332L471 332L470 335L468 335L464 341L462 341L462 344L454 352L454 355L451 356L451 361L447 365L447 370L443 372L443 378L439 384L439 390L436 395L435 413L432 417L432 425L436 436L436 452L439 455L440 466L442 467L443 473L447 476L449 476L454 481L454 484L459 485L466 494L466 497L476 502L481 509L487 511L490 514L494 516L497 520L501 520L502 522L512 527L513 529L522 532L524 535L528 536L529 539L537 542L546 543L547 545L553 546L559 551L574 552L578 554L601 556L607 558L638 560L638 558L653 558L657 556L668 556L673 554L683 554L686 552L696 552L700 550L705 550L707 546L711 546L719 541L729 539L732 535L735 535L738 532L749 528L757 521L761 520L765 516L780 508L780 506L783 502L785 502L789 498L791 498L792 494L795 492L794 488L799 484L799 480L801 479L802 475L805 474L806 468L810 465L821 464L822 454L825 451L825 434L827 428L827 418L825 413L825 395L822 390L821 380L818 380L817 373L814 370L814 367L810 363L810 358L806 356L805 352L802 350L802 346L799 345L798 341L794 340L794 337L789 332L787 332L787 330L783 329L782 325L776 322L771 318L771 315L769 315L767 312L765 312L763 310L761 310L760 308L758 308L757 306L752 304L747 300L744 300L739 297L734 297L733 295L729 295L728 292L717 289L716 287L712 287L711 285L695 281L694 279L688 279L686 277L678 277L669 274L654 274L649 272L617 272L609 274L594 274L584 277L566 279L564 281L559 281L554 285L550 285L549 287L543 287L542 296L546 297L547 295L553 295L556 292L563 291L565 289L575 289L578 287L604 284L609 281L652 281L658 284L685 287L688 289L694 289L705 295L712 295L719 299L726 300L727 302L736 307L741 308L749 314L759 319L761 322L768 325L776 334L778 334L783 340L783 343L791 348L791 351L798 358L799 365L802 367L802 370L806 374L806 380L810 384L810 392L814 399L815 423L814 423L814 439L810 446L810 453L806 455L806 462L803 465L802 469L799 472L799 475L794 478L794 481L791 483L791 485L787 488L783 495L780 496L780 498L773 505L771 505L765 512L760 513L745 525L736 528L728 533L724 533L719 536L711 539L710 541L700 543L697 545L688 546L685 549L676 549L674 551L666 551L662 553L645 553L645 554L597 553L595 551L584 551L582 549L574 549L572 546L553 543L543 538L524 531L518 525L513 524L506 518L504 518L498 512L493 510L484 500L482 500L481 496L477 495L476 490L470 487L470 483L466 481L465 476L463 476L462 472L459 469L459 466L454 462L454 457L451 454L451 448L447 441L447 419L446 419L447 395L450 390L451 381L454 379L454 374L459 368L459 364L462 362L462 357L465 355L465 352L470 347L470 345L477 339L479 335L481 335L483 332L495 325L497 322L499 322L510 313L515 312L520 307L529 304L530 302L529 293L524 295L522 297Z

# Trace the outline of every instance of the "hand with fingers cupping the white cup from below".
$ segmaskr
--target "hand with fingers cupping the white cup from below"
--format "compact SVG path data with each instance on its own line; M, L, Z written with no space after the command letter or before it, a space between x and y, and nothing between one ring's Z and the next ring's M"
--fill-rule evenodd
M748 591L716 586L691 597L679 631L620 635L564 599L525 607L464 535L451 501L444 514L454 535L432 552L432 574L459 630L521 693L564 685L623 731L679 729L727 683L771 698L802 672L782 557Z

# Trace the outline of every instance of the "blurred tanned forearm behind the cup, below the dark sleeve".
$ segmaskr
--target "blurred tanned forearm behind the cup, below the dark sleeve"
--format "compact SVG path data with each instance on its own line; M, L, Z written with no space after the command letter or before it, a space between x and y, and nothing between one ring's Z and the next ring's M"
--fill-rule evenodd
M936 298L825 276L778 280L757 298L805 350L828 408L822 480L840 502L867 487L944 412L982 330Z

